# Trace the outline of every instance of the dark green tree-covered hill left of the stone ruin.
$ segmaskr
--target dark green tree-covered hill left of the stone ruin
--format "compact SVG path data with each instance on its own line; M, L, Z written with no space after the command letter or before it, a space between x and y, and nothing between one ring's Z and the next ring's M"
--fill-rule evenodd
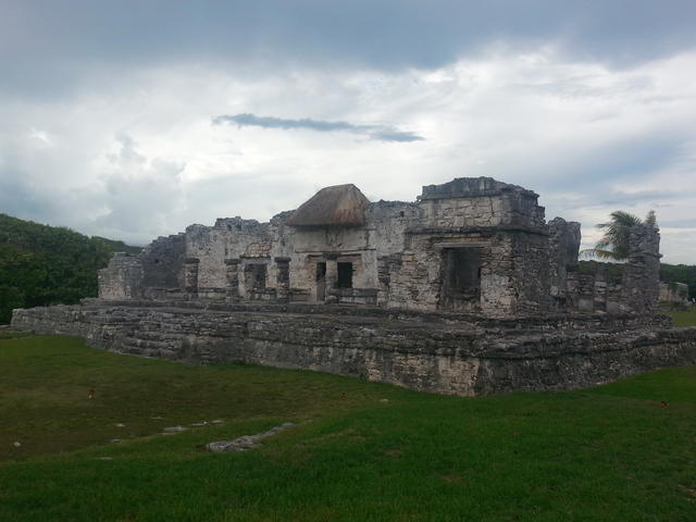
M0 324L10 322L13 308L72 304L96 297L97 271L111 254L140 250L0 214Z

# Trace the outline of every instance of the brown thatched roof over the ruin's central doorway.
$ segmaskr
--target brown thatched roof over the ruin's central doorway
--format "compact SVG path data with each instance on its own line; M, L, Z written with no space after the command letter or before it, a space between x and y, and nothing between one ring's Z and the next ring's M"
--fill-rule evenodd
M293 212L291 226L362 226L368 198L352 184L324 187Z

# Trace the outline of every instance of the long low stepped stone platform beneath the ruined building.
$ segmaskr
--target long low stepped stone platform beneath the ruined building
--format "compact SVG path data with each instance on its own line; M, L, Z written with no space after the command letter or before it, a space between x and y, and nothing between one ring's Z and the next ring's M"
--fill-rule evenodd
M12 326L190 363L316 370L474 396L570 389L696 363L696 327L661 315L489 320L311 304L100 301L15 310Z

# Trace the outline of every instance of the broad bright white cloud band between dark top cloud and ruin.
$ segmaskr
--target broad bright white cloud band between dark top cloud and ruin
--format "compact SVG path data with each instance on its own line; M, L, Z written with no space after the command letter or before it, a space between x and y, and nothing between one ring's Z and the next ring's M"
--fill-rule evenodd
M492 49L390 73L160 66L62 103L0 101L0 202L22 217L135 243L217 216L268 220L325 185L413 200L422 185L481 175L536 190L547 217L583 222L585 240L618 208L655 208L660 221L693 215L696 53L612 70L550 46ZM211 125L239 113L405 128L424 139ZM664 229L666 260L696 262L691 238Z

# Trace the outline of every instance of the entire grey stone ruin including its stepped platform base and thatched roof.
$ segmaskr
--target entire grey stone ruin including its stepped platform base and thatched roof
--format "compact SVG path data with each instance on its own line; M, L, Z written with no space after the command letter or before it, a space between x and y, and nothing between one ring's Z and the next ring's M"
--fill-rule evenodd
M219 219L115 254L99 299L13 324L189 362L251 362L431 391L560 389L696 362L696 328L655 313L659 231L622 274L579 270L580 224L488 177L415 202L321 189L268 223Z

